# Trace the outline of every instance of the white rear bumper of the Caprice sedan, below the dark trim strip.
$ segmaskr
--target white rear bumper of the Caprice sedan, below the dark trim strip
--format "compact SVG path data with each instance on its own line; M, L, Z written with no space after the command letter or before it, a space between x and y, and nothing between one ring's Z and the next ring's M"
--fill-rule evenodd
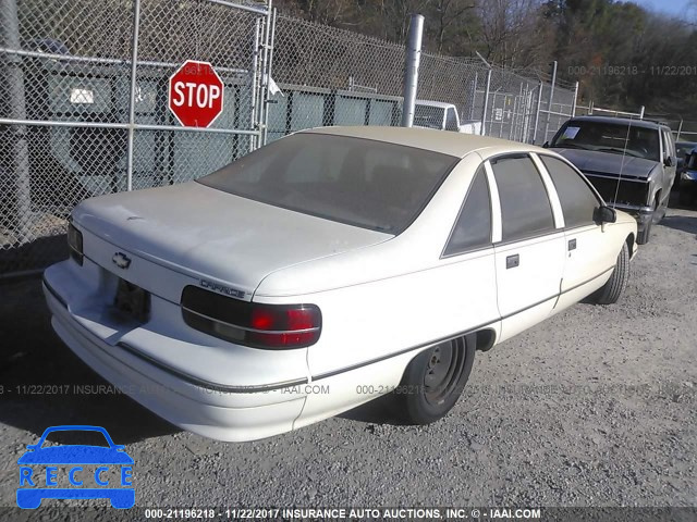
M77 357L121 391L184 430L220 440L254 440L291 431L303 411L306 397L285 388L230 393L187 382L89 332L46 282L44 294L53 330Z

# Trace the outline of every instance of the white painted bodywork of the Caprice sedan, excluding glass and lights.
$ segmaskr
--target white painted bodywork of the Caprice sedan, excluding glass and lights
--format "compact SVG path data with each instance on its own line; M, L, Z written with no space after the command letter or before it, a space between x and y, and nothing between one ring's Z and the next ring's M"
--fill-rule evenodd
M185 430L223 440L262 438L388 393L415 355L441 340L488 331L498 344L567 308L602 286L622 245L636 236L636 222L622 212L616 223L564 229L552 197L555 231L501 244L500 202L488 167L492 246L443 257L482 162L512 151L550 152L436 130L313 132L462 160L398 236L195 182L83 202L73 213L83 234L83 265L66 260L45 273L52 324L65 344L126 393L145 387L147 393L130 395ZM550 190L549 176L542 176ZM577 249L567 251L570 239ZM130 266L112 261L117 252ZM519 266L509 270L512 253L519 256ZM114 314L119 277L150 293L149 320ZM319 340L272 350L199 332L184 322L180 302L186 286L201 285L217 294L240 293L229 299L316 304L322 314Z

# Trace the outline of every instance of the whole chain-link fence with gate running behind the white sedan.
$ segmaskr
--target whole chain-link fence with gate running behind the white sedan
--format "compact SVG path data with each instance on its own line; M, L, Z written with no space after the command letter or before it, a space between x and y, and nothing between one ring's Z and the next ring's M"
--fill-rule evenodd
M223 82L210 128L168 108L186 60ZM404 62L403 46L265 2L0 0L0 277L65 257L85 198L197 178L303 128L399 125ZM550 90L549 75L424 52L414 121L541 144L574 110L570 86Z

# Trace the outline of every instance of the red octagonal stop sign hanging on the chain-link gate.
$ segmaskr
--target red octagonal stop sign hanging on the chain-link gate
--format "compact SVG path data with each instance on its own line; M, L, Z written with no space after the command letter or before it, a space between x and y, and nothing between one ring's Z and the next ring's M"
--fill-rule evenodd
M185 127L207 127L222 112L222 80L208 62L187 60L170 76L169 107Z

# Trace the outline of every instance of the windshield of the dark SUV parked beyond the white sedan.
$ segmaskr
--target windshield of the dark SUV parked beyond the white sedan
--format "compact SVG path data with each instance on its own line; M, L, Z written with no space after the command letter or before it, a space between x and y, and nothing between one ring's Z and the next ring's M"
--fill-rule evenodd
M557 133L551 146L612 152L660 161L658 130L624 123L567 122Z

